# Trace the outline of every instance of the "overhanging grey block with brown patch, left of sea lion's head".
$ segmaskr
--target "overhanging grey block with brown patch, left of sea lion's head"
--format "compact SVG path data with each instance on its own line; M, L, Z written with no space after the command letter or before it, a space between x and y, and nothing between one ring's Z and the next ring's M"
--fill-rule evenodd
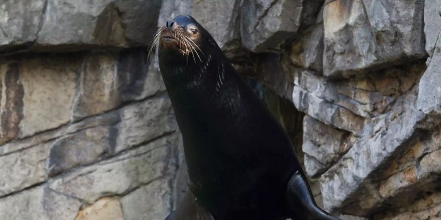
M37 44L61 44L71 50L91 45L147 45L156 31L160 3L159 0L48 0Z

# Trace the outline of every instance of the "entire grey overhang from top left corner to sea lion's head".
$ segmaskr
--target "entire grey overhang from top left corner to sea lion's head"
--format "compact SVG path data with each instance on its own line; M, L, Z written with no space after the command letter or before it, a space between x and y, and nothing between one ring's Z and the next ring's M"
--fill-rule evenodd
M160 6L161 0L37 0L30 5L8 0L0 7L0 48L65 51L147 45ZM14 45L20 47L8 48Z

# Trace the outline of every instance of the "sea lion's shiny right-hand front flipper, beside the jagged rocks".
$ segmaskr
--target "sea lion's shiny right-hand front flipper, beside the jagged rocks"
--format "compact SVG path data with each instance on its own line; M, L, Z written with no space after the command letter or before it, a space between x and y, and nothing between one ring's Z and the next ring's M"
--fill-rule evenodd
M291 211L290 217L293 219L341 220L319 208L305 176L299 172L296 172L288 182L285 197Z

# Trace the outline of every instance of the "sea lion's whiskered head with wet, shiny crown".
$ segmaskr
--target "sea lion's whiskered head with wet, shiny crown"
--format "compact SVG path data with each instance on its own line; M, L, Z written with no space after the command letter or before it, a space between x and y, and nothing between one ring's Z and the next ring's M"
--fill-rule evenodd
M160 27L150 54L157 43L160 62L174 65L203 65L208 55L223 54L210 33L189 15L177 16Z

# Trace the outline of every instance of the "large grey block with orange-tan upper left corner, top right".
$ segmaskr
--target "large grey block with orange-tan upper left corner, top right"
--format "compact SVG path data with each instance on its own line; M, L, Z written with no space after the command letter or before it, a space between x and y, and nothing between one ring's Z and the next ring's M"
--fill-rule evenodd
M426 55L422 0L335 0L323 17L325 76L360 74Z

